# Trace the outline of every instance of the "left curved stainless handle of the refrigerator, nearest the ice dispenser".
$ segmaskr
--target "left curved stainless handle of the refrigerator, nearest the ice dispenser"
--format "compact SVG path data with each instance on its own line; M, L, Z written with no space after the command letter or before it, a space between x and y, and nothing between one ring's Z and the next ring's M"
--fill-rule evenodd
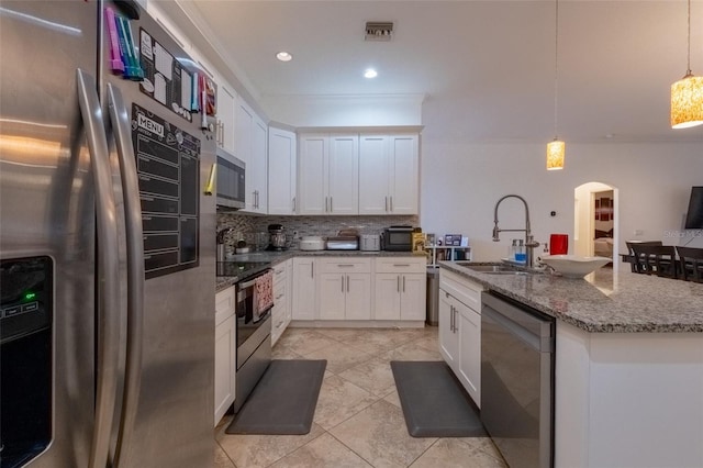
M112 421L114 416L118 360L120 357L120 276L118 224L110 153L104 120L94 78L78 68L78 104L86 130L91 170L96 188L96 226L98 235L96 272L98 283L96 414L90 449L90 468L104 468L108 464Z

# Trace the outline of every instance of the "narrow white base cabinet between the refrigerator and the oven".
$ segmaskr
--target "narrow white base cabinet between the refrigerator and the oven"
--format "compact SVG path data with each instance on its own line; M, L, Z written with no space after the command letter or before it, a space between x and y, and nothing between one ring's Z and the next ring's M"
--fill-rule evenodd
M236 385L236 309L234 286L215 294L214 425L234 402Z

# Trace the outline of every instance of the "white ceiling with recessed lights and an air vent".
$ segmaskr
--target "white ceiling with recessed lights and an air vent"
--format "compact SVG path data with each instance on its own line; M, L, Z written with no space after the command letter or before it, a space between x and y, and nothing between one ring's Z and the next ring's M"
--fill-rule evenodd
M178 3L254 96L420 93L423 119L443 114L446 137L554 136L555 1ZM387 20L391 42L364 41L367 21ZM691 43L703 75L703 0L692 2ZM367 67L378 78L365 79ZM703 142L703 126L669 126L670 86L685 68L684 0L560 0L559 136Z

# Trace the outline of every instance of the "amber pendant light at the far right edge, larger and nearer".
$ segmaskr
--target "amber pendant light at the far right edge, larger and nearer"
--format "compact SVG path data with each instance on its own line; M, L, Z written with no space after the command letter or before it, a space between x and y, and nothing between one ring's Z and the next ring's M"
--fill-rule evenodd
M689 129L703 124L703 77L691 73L691 0L689 0L688 54L685 76L671 85L671 127Z

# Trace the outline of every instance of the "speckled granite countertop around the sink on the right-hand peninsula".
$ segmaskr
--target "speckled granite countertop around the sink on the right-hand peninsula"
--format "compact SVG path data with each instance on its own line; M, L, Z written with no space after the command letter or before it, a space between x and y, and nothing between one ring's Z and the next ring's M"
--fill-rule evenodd
M585 279L440 267L594 333L703 333L703 285L601 268Z

